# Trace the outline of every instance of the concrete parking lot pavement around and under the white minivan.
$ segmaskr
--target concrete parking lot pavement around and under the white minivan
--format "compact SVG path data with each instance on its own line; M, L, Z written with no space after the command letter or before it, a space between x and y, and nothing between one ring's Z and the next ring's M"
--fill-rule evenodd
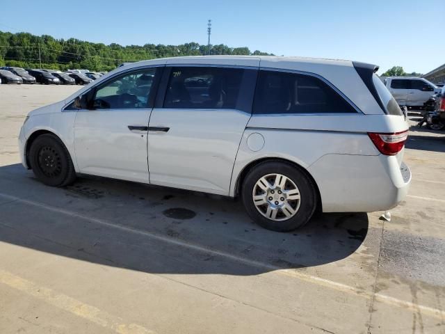
M0 333L445 333L445 132L412 127L390 222L277 233L227 198L35 180L19 128L76 89L0 86Z

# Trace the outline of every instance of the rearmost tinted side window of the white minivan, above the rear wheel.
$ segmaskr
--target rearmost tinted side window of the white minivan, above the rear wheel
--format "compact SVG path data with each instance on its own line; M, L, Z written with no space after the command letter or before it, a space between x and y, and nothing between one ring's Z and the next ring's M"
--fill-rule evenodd
M253 113L357 113L321 79L306 74L259 72Z

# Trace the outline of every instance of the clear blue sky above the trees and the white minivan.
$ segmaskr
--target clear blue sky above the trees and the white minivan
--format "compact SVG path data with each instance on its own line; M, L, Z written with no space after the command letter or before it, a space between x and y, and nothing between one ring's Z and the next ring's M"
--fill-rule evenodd
M444 0L3 1L1 31L121 45L247 46L426 73L445 63Z

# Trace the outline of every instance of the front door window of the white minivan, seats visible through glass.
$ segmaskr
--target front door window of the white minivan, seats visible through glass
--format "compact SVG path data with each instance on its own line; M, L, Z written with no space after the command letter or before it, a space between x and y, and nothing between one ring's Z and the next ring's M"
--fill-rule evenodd
M124 74L100 86L93 99L94 109L149 108L156 67Z

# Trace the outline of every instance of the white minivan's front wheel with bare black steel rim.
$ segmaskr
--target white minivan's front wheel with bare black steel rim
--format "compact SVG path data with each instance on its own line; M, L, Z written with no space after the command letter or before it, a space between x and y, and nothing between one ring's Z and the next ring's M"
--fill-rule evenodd
M54 134L35 138L29 150L35 177L47 186L67 186L76 180L70 153Z

